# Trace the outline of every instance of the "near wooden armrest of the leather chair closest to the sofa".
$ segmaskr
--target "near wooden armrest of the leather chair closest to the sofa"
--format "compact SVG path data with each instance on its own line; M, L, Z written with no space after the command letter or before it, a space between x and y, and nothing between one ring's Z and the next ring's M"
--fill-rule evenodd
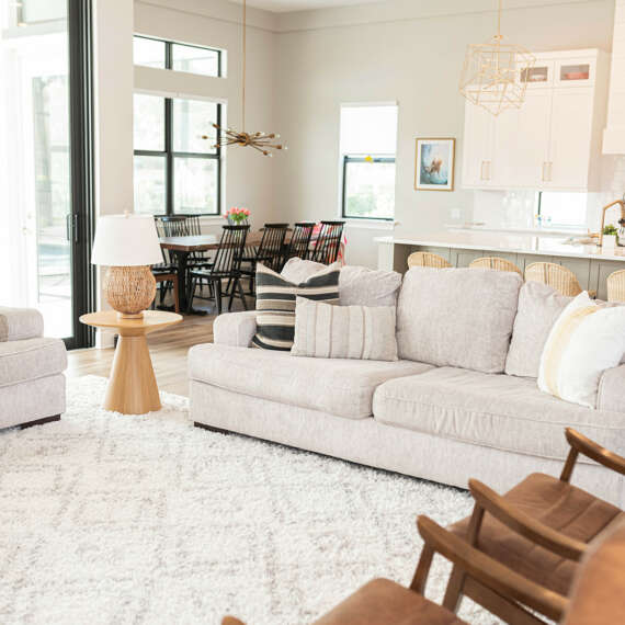
M588 548L586 543L566 536L525 514L481 481L469 479L469 490L476 504L521 536L569 560L578 561L584 555Z

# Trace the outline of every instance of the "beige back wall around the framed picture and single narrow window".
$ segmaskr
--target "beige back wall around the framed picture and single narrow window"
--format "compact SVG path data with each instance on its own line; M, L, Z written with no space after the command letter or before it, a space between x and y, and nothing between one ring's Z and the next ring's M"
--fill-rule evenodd
M534 50L611 49L614 0L505 5L502 31L511 42ZM277 120L289 151L280 161L276 201L285 217L337 216L340 103L397 100L396 234L414 236L473 218L479 196L461 188L458 78L467 44L493 34L495 7L490 0L416 0L281 15ZM456 191L413 190L416 137L457 138ZM348 261L375 266L372 240L378 234L348 236Z

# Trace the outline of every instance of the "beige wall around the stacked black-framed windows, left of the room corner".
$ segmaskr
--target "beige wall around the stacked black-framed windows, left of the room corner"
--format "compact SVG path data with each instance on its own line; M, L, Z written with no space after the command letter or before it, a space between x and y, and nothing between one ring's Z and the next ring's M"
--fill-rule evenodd
M135 86L161 93L198 94L227 102L228 125L241 124L241 7L225 2L195 0L135 0L135 32L182 43L217 47L227 52L227 77L206 78L166 70L137 68ZM248 10L248 72L246 87L247 129L275 127L274 15ZM206 129L198 128L202 134ZM252 227L279 219L274 190L275 159L254 150L225 152L225 194L223 207L247 206ZM217 231L223 219L205 219L204 231Z

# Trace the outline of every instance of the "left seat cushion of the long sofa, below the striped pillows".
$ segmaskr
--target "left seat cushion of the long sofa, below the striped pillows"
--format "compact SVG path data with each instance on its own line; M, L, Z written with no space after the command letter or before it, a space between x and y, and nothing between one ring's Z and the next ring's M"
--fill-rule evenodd
M430 368L411 361L295 357L212 343L189 352L191 379L349 419L372 416L373 394L383 382Z

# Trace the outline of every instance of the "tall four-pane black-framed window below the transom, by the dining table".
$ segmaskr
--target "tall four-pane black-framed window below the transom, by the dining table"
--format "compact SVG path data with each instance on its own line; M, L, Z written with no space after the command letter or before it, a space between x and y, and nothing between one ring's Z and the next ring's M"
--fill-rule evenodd
M221 105L135 94L135 211L151 215L219 215L221 152L202 139L220 125Z

